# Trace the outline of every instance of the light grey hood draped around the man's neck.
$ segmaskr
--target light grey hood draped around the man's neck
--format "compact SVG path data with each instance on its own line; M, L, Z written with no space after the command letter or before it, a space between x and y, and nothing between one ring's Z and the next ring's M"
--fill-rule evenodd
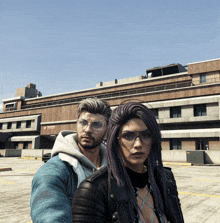
M57 154L65 154L65 161L69 162L73 166L72 160L77 160L82 167L89 168L91 170L97 170L96 166L85 157L79 147L77 142L77 133L74 131L61 131L56 138L54 143L51 156L56 156ZM100 149L101 156L101 166L106 166L106 148L101 144Z

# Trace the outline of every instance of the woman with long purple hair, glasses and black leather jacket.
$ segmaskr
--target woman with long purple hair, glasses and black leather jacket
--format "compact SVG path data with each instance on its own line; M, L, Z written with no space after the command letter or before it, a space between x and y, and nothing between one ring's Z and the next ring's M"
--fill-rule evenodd
M73 222L184 222L175 179L161 161L161 134L146 106L129 102L112 112L107 160L76 191Z

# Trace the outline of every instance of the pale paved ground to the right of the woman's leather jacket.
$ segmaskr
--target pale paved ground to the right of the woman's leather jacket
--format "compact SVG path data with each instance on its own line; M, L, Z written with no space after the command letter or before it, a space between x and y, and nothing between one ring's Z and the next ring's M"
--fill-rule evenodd
M186 223L220 222L220 167L172 166Z

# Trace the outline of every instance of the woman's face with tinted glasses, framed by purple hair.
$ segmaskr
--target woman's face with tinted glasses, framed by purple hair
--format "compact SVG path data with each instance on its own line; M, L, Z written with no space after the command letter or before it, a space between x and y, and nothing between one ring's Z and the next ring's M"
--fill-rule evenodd
M132 118L119 131L119 153L126 167L135 172L144 172L144 161L147 159L152 138L144 122Z

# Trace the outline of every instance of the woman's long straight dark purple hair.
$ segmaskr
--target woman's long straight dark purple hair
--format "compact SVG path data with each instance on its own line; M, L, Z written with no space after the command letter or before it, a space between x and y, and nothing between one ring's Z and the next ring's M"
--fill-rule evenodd
M166 205L164 203L166 202L166 190L163 185L165 181L161 160L161 134L153 113L143 104L139 102L129 102L124 105L119 105L112 111L107 128L107 165L108 168L112 170L117 184L119 186L125 186L124 188L128 196L131 197L133 205L138 210L139 207L137 205L134 189L120 156L119 142L117 139L122 125L132 118L140 118L151 133L152 145L145 165L147 166L150 185L153 188L155 207L160 214L163 214L164 205ZM162 193L160 191L162 191Z

